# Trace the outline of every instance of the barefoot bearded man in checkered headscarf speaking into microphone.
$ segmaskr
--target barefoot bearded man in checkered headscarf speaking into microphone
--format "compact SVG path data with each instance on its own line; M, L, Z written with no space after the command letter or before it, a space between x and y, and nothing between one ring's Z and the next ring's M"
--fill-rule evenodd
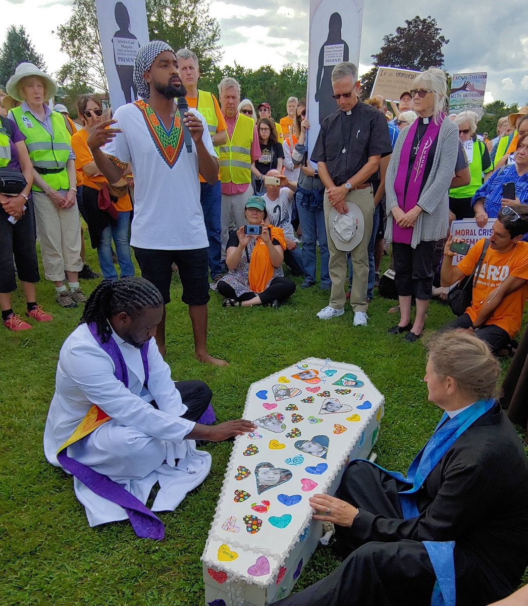
M194 109L180 116L175 97L185 96L176 53L157 40L140 48L134 63L134 83L142 97L122 105L114 120L97 125L88 138L94 161L109 183L115 183L130 163L134 176L134 218L130 244L141 274L159 288L163 304L170 301L172 265L182 281L182 301L193 323L194 353L201 362L226 362L207 351L208 239L200 205L202 175L218 180L218 159L205 118ZM183 145L183 123L193 139ZM108 128L116 124L116 128ZM101 146L105 145L104 151ZM165 308L156 342L165 356Z

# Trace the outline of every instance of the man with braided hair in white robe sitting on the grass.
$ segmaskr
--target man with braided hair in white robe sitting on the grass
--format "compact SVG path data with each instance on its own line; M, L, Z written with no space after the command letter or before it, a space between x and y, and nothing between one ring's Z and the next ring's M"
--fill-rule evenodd
M45 456L73 474L90 526L128 516L147 538L163 536L152 512L174 510L210 471L211 455L194 440L220 442L256 428L243 420L197 422L211 390L202 381L171 380L153 339L162 315L151 282L101 282L62 345L44 431Z

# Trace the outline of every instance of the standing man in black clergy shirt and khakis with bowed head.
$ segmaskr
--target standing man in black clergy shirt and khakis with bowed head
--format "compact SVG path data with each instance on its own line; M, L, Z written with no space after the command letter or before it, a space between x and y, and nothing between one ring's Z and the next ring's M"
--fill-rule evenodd
M321 123L311 160L317 162L319 177L325 185L325 221L330 260L328 264L332 290L329 305L318 312L322 320L345 313L346 251L338 250L329 232L328 216L333 208L347 213L346 202L360 208L365 219L365 233L351 251L352 290L350 304L354 326L367 324L367 287L369 278L368 245L372 234L374 193L380 159L392 153L387 121L381 112L358 100L360 82L357 68L348 61L332 70L332 88L339 110Z

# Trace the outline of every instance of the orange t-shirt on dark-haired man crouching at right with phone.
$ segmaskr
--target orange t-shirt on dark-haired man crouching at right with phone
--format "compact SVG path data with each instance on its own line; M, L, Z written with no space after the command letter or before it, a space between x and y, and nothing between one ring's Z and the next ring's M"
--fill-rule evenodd
M469 276L474 270L478 259L480 259L483 246L484 239L481 239L469 249L467 255L458 264L458 269L465 276ZM500 287L500 284L508 276L522 278L526 280L526 283L519 290L510 293L503 299L497 309L493 311L492 316L486 321L486 324L495 324L495 326L503 328L513 338L521 327L524 304L528 297L528 242L517 242L515 249L509 250L507 253L498 253L488 247L477 285L473 288L473 300L466 313L474 322L483 301L489 295L492 295L493 291Z

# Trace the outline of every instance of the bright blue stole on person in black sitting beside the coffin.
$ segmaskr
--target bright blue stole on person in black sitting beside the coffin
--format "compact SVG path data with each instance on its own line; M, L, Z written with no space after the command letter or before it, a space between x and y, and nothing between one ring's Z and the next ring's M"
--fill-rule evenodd
M398 471L387 471L383 467L371 463L371 465L375 465L375 467L389 474L392 478L410 486L408 490L402 490L398 493L400 495L403 519L417 518L420 515L414 493L424 485L429 473L440 462L454 442L477 419L491 410L494 405L495 398L478 400L452 419L444 412L434 434L415 456L406 478ZM423 544L437 576L431 598L431 606L455 606L455 541L423 541Z

